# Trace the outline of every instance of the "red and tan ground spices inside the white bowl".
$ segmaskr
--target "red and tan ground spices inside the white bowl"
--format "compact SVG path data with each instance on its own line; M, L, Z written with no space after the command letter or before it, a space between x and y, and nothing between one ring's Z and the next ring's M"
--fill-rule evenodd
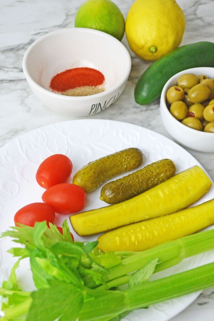
M89 96L105 90L104 75L93 68L67 69L50 81L50 89L67 96Z

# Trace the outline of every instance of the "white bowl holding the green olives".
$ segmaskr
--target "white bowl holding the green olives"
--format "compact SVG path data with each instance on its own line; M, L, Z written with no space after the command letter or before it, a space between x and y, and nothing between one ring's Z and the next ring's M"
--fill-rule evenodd
M167 132L182 145L199 152L214 152L214 133L205 133L189 128L176 120L169 112L166 104L167 90L177 84L177 79L182 74L206 75L214 77L214 68L198 67L181 71L171 77L165 84L160 97L160 116Z

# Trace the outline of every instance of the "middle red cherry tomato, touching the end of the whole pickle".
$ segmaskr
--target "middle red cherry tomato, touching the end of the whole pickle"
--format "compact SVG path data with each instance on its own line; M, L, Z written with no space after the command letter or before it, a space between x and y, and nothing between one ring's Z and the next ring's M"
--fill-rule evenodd
M75 184L57 184L43 193L42 200L53 207L56 213L72 214L84 207L85 191Z

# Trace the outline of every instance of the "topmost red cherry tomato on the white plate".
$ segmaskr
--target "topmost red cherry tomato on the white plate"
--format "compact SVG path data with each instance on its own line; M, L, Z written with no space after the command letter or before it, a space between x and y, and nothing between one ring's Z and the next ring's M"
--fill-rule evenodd
M71 176L73 165L71 160L62 154L46 158L36 172L37 183L44 188L65 183Z

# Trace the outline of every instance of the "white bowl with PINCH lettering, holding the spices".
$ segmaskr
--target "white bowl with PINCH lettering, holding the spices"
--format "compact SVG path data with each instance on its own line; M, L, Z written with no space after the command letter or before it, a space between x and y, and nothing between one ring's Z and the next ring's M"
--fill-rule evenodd
M119 97L128 80L131 58L124 45L105 32L65 28L36 40L27 49L22 67L31 90L44 105L61 114L80 117L100 112ZM49 90L53 76L76 67L103 73L106 91L71 97Z

